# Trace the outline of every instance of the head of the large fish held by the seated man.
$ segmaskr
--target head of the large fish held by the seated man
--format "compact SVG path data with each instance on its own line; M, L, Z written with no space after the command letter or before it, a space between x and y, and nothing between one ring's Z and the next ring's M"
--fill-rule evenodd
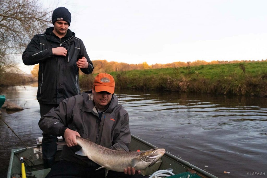
M154 148L150 149L147 151L144 151L140 154L140 157L143 161L150 162L151 164L149 165L152 166L154 165L160 157L162 157L165 153L165 149L163 148Z

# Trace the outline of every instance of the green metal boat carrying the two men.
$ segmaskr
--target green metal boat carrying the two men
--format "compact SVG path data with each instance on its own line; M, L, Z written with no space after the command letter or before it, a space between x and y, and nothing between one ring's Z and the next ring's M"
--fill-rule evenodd
M42 145L40 140L40 138L37 139L37 145L34 147L16 148L11 150L7 178L18 178L21 176L21 157L24 160L26 177L43 178L48 174L50 168L44 169L42 160ZM130 151L142 151L152 148L157 147L134 135L131 135L131 143L129 146ZM58 145L56 161L59 160L61 151L62 146ZM216 178L216 176L211 175L210 173L195 167L194 165L171 155L168 152L166 152L157 163L147 168L146 175L148 175L148 177L153 177L155 172L162 172L159 170L162 170L163 172L164 170L167 170L165 172L171 172L169 175L171 178Z

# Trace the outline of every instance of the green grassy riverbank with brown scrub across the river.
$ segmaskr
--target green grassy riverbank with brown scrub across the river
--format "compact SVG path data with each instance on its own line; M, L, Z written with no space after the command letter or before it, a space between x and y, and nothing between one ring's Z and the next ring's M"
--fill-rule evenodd
M110 72L116 88L267 96L267 62ZM93 76L81 76L81 86Z

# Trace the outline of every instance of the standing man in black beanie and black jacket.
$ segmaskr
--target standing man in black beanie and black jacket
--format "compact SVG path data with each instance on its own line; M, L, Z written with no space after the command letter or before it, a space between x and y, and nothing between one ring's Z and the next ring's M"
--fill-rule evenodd
M53 11L54 27L44 34L36 34L22 54L25 65L39 64L37 100L40 114L57 107L65 98L81 94L79 68L85 74L93 71L93 64L81 39L70 31L71 16L68 9ZM82 57L79 57L80 54ZM51 167L57 149L57 137L43 133L42 152L45 168Z

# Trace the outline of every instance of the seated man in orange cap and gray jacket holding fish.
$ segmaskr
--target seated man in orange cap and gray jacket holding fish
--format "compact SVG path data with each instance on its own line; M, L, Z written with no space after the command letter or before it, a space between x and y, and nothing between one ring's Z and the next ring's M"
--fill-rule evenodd
M107 148L129 151L131 141L129 116L113 96L114 78L107 73L96 76L92 90L66 98L39 121L44 134L63 136L61 161L52 166L46 177L105 177L105 170L86 156L75 154L81 147L76 136L89 138ZM107 177L142 177L140 170L128 167L123 172L108 171Z

